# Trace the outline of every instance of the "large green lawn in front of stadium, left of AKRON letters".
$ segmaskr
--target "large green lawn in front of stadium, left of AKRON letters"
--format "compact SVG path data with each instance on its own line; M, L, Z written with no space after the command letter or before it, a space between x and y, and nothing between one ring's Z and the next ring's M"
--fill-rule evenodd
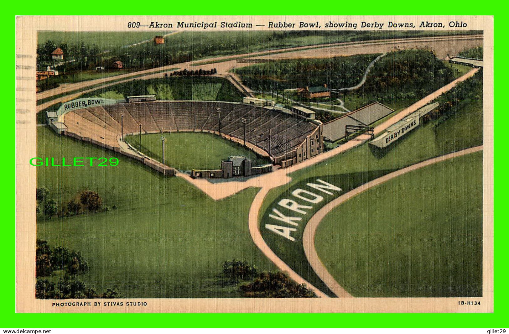
M213 201L181 178L164 178L133 159L48 127L37 130L38 156L120 160L107 168L37 168L37 186L47 187L59 206L84 189L97 191L104 205L118 206L37 222L37 238L82 252L90 270L78 279L96 291L113 287L125 297L239 297L235 286L216 277L224 261L243 258L259 269L275 269L246 224L257 189Z

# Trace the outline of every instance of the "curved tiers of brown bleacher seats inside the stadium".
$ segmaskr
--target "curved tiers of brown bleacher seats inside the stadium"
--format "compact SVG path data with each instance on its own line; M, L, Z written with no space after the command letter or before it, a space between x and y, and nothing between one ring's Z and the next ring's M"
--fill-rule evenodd
M218 109L220 113L218 114ZM96 140L115 142L124 134L142 131L219 131L246 141L271 154L280 156L300 146L316 130L317 124L291 114L252 104L216 101L131 102L72 110L64 116L69 132ZM69 122L69 125L67 124ZM269 140L269 134L271 136Z

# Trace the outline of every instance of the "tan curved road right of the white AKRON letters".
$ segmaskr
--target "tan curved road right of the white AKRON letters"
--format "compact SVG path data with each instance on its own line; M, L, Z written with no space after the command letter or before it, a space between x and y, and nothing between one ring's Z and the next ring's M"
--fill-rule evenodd
M341 287L336 280L334 280L334 277L327 271L327 268L324 266L322 261L320 261L320 258L318 257L318 254L315 249L315 233L318 228L318 225L320 224L320 221L329 213L332 209L337 207L338 205L346 202L347 200L351 199L352 197L357 196L359 193L370 189L374 186L377 186L379 184L382 184L384 182L389 181L390 179L393 179L395 177L401 176L403 174L406 174L408 172L412 172L415 170L418 170L420 168L423 168L425 166L444 161L447 159L459 157L465 154L470 154L478 151L482 151L483 146L477 146L472 147L469 149L465 149L462 151L454 152L445 154L436 158L432 158L429 160L425 160L413 165L410 165L406 168L403 168L401 170L389 173L387 175L381 176L378 179L372 180L370 182L364 183L360 187L357 187L353 190L348 191L347 193L343 194L342 196L334 199L333 201L326 204L323 208L318 210L307 222L304 233L302 235L302 244L304 246L304 253L306 254L307 262L311 265L313 270L315 270L316 274L320 277L320 279L327 285L327 287L334 292L338 297L351 297L351 295L343 288Z

